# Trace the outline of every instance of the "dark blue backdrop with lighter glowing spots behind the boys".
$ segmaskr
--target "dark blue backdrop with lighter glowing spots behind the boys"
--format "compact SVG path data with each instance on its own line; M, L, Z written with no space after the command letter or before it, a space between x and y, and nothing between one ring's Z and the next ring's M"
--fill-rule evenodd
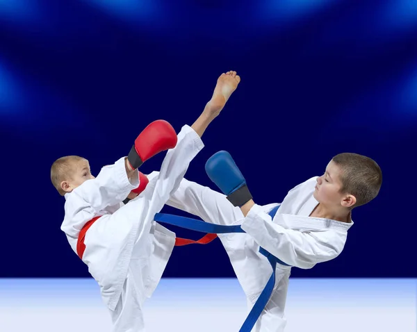
M76 154L97 174L149 122L192 124L236 70L186 178L216 189L204 163L224 149L269 204L336 153L369 156L384 183L345 250L292 276L416 277L416 38L412 0L0 0L0 276L89 276L60 231L51 163ZM176 248L165 276L234 272L216 240Z

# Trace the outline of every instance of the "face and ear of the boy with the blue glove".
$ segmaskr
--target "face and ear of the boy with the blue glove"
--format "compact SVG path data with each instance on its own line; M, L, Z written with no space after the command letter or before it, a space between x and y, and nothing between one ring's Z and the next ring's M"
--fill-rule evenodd
M328 207L350 207L356 203L356 199L350 194L342 194L341 183L342 171L333 160L326 167L325 174L317 179L313 197ZM353 201L354 200L354 201Z

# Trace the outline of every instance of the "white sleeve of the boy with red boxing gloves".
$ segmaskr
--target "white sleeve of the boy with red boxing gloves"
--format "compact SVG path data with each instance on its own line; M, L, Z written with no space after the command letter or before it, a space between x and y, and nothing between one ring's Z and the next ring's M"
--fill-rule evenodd
M74 194L98 212L108 206L119 204L138 186L138 172L135 172L129 181L124 158L120 158L113 165L103 167L97 178L87 180L74 189Z

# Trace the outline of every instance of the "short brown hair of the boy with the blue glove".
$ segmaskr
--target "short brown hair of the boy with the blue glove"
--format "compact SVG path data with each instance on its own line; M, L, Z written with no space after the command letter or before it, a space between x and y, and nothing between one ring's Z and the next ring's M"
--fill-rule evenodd
M352 208L367 204L377 197L382 185L382 171L375 160L357 153L340 153L332 160L341 167L341 192L352 194L357 199Z

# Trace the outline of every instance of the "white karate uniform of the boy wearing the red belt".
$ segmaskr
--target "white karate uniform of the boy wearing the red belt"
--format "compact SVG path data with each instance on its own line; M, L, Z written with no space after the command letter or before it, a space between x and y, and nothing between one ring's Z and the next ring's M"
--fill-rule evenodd
M101 215L85 234L83 262L99 283L114 332L145 331L143 301L154 292L175 243L175 234L153 218L177 190L190 161L203 147L199 135L183 126L177 146L167 151L161 172L125 206L120 201L139 183L137 172L129 182L124 158L65 194L61 229L75 252L82 227Z

